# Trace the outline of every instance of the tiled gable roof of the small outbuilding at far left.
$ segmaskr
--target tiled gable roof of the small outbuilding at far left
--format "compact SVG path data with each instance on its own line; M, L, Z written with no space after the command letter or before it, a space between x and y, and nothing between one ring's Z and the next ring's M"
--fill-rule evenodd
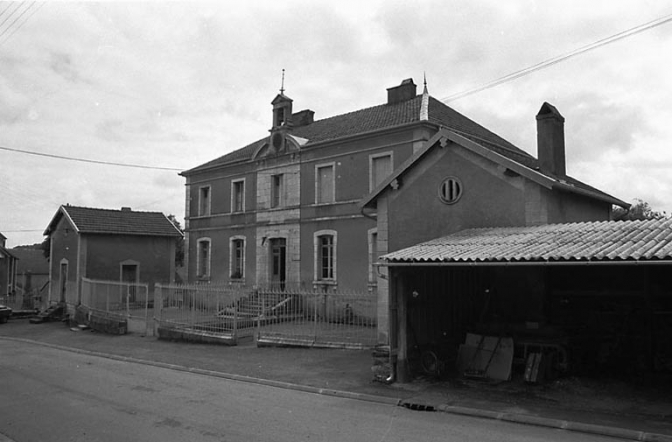
M70 219L78 233L180 237L182 233L161 212L94 209L61 206L44 234L56 228L61 217Z

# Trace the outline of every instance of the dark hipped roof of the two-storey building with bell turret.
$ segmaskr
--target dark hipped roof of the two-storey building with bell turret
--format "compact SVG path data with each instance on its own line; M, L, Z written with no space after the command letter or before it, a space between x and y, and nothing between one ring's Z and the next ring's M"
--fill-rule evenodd
M415 98L400 103L381 104L317 120L312 124L294 127L290 133L294 136L307 139L308 142L303 147L310 148L313 145L326 141L410 123L418 123L421 121L421 105L422 95L417 95ZM510 156L511 159L516 161L525 161L526 165L529 164L531 167L538 166L536 163L537 160L527 152L431 96L428 101L428 116L430 123L450 128L465 136L470 136L474 141L487 143L486 147L496 149L499 153ZM188 175L211 167L233 164L239 161L249 161L256 150L267 140L268 137L266 136L229 154L184 171L181 174Z

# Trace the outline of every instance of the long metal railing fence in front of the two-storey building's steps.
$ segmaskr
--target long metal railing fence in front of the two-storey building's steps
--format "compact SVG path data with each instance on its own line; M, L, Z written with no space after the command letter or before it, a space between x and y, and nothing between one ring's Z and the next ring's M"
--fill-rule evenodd
M248 288L230 285L157 285L160 327L237 341L369 348L376 344L373 292ZM159 298L161 301L159 301Z

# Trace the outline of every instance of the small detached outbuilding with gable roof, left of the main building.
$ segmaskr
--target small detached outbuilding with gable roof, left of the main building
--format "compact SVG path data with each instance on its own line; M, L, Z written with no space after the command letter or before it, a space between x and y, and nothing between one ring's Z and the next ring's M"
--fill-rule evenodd
M50 241L49 301L73 310L82 278L171 283L182 233L160 212L61 206L44 234Z

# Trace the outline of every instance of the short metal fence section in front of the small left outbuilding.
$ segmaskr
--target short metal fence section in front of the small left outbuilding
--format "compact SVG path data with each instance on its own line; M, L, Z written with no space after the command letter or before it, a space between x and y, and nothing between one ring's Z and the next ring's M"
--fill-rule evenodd
M126 319L130 332L154 330L149 313L154 297L147 284L82 278L80 301L89 310Z

